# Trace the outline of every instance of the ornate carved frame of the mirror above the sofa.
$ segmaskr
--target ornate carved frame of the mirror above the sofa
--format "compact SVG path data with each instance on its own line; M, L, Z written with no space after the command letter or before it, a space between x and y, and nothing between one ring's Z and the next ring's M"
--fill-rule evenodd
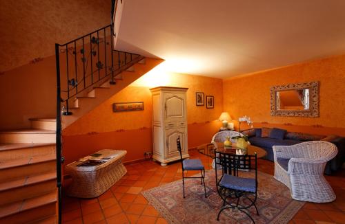
M309 109L304 111L277 110L277 91L293 89L309 89ZM319 117L319 82L302 82L270 87L270 115L289 117Z

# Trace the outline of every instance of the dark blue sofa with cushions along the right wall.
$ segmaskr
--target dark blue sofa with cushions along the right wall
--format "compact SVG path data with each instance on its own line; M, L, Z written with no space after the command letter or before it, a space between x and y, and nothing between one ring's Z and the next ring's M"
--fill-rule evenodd
M345 137L287 132L279 128L252 128L242 131L242 134L248 136L250 144L266 150L267 155L264 159L270 161L273 161L273 146L290 146L307 141L326 141L337 146L338 154L334 159L328 161L325 174L330 175L332 171L339 170L345 161Z

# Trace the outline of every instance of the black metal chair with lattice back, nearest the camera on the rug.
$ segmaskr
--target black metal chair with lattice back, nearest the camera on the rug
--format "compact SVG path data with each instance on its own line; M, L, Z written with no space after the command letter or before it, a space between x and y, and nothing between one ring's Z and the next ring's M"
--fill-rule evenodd
M236 155L235 153L220 153L216 151L216 157L219 159L216 159L215 166L217 192L223 200L217 221L219 221L219 216L223 210L237 208L255 223L247 209L254 206L257 215L259 215L255 205L257 200L257 154ZM221 166L220 178L217 172L217 170L220 170L217 168L217 165ZM239 177L239 170L255 170L255 178Z

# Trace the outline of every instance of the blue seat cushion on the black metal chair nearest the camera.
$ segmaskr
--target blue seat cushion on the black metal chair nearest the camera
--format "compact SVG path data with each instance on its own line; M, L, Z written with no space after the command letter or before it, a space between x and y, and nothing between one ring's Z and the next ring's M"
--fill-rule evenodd
M242 190L246 192L255 192L255 179L235 177L233 175L224 174L219 182L219 185L224 188L230 188L234 190Z

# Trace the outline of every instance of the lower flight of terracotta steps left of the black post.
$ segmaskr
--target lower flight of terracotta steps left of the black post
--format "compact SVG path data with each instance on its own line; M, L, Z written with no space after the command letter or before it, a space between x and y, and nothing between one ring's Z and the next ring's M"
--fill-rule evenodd
M0 132L0 223L56 223L55 119Z

